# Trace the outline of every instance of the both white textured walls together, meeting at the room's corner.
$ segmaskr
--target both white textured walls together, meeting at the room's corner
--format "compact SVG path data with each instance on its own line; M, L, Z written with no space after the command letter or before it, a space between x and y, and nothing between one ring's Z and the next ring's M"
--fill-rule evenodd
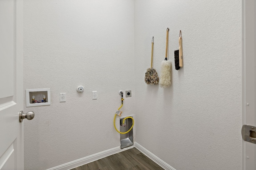
M122 89L132 90L122 111L135 114L135 141L170 166L240 170L241 7L240 0L24 0L24 90L50 88L52 98L50 106L24 105L36 113L24 122L25 169L119 146L112 119ZM172 86L163 89L145 84L144 74L152 36L160 74L167 27ZM176 71L180 29L184 68Z

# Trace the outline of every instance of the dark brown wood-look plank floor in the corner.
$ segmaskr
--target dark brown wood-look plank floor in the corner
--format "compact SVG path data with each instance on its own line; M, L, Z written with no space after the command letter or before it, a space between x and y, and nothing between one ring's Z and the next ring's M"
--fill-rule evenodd
M84 164L72 170L164 170L136 148Z

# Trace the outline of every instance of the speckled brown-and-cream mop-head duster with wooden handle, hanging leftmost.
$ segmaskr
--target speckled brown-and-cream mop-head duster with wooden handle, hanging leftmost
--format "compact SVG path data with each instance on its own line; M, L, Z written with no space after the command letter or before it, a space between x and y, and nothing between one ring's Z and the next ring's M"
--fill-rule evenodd
M146 84L158 84L159 83L159 77L156 72L156 69L152 68L153 47L154 47L154 37L152 37L152 42L151 42L151 67L147 69L147 71L145 73L145 78L144 78Z

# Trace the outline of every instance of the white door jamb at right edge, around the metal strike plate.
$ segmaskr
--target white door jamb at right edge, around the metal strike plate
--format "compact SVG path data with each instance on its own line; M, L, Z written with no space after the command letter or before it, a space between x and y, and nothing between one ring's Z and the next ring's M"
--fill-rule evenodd
M250 142L242 141L242 169L256 170L256 2L243 1L243 96L242 124L249 125ZM252 127L253 126L253 127ZM243 132L243 130L242 130ZM242 133L243 134L243 133Z

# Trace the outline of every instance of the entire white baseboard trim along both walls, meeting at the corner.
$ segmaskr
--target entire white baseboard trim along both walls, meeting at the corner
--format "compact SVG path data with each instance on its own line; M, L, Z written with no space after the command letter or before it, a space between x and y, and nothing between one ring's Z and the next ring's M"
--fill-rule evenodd
M128 148L124 148L124 149L120 149L120 147L115 147L115 148L108 149L108 150L105 150L105 151L102 151L102 152L99 152L96 154L92 154L90 156L86 156L84 158L80 158L78 160L68 162L66 164L55 166L55 167L47 169L47 170L69 170L69 169L76 168L76 167L84 165L84 164L88 164L95 160L105 158L106 156L110 156L112 154L116 154L118 152L122 152L124 150L131 149L133 147L140 150L140 152L142 152L143 154L148 156L150 159L152 159L154 162L156 162L159 166L161 166L165 170L175 170L174 168L172 168L172 166L168 165L166 162L164 162L163 160L161 160L156 155L152 154L150 151L148 151L147 149L145 149L144 147L142 147L140 144L138 144L136 142L134 142L134 145L132 147L128 147Z

